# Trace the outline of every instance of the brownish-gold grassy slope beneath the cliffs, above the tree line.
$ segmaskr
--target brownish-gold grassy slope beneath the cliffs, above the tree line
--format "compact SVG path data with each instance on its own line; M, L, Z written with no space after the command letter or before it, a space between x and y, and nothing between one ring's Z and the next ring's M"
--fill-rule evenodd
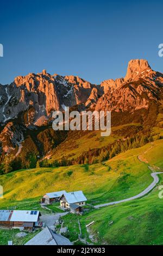
M84 151L89 149L106 147L123 137L130 137L141 129L140 123L128 123L121 126L111 127L111 135L101 137L101 131L73 131L68 133L64 142L59 144L47 156L51 157L50 163L55 159L65 156L67 159L76 159Z

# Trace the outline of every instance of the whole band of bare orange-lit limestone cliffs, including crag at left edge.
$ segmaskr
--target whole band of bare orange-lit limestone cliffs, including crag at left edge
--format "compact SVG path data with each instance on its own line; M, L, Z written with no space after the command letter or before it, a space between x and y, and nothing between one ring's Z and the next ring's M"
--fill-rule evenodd
M64 106L128 114L149 109L152 102L159 106L162 86L163 75L142 59L130 60L126 77L99 85L78 76L50 75L46 70L18 76L10 85L0 84L0 150L5 154L20 148L30 131L39 133L40 126L46 129L53 111L64 111Z

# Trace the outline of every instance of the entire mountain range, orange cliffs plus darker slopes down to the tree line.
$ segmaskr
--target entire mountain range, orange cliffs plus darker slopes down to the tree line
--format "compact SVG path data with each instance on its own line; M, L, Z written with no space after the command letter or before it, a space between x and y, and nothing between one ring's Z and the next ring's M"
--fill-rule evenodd
M143 59L130 60L124 78L101 84L92 84L78 76L50 75L43 70L39 74L18 76L11 84L0 84L0 99L1 163L11 155L24 163L31 154L39 160L61 159L64 149L68 152L67 159L76 159L72 151L82 147L78 157L87 151L82 142L85 135L92 150L106 148L140 131L151 136L155 127L162 128L163 74L152 70ZM64 112L64 106L80 112L111 111L114 139L95 138L96 131L54 131L53 111Z

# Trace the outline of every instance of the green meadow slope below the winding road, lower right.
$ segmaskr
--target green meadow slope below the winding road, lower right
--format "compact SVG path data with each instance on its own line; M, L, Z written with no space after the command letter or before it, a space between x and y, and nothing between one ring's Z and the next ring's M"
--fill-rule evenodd
M86 214L80 220L83 229L95 221L91 234L98 244L163 245L163 199L158 197L159 185L141 199Z

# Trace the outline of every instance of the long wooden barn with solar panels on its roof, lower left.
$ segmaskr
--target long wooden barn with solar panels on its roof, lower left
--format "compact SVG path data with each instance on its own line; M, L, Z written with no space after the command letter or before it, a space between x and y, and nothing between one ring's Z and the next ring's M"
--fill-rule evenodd
M33 231L35 223L39 223L39 227L42 227L42 222L39 222L40 216L39 211L0 210L0 228Z

